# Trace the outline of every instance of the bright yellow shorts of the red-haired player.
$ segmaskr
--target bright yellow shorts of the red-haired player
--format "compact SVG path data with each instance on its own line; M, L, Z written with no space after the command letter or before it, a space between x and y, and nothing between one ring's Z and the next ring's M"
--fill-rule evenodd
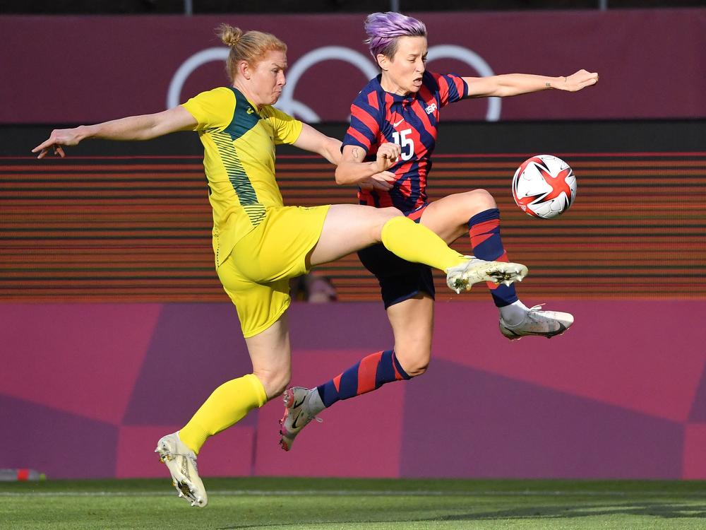
M328 208L268 208L218 267L246 338L268 329L289 307L289 279L309 272L306 256L321 237Z

